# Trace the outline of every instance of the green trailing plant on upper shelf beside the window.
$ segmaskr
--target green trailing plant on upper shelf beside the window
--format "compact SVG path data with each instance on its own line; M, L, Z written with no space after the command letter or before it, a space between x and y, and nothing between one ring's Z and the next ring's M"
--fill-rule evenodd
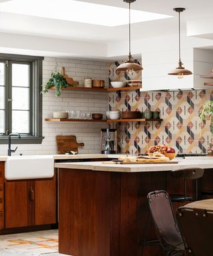
M68 86L74 86L74 85L67 83L67 80L61 73L55 72L51 74L51 78L46 83L45 89L41 91L41 93L47 93L48 90L53 86L55 86L55 96L59 97L61 96L61 90L63 88L66 88Z

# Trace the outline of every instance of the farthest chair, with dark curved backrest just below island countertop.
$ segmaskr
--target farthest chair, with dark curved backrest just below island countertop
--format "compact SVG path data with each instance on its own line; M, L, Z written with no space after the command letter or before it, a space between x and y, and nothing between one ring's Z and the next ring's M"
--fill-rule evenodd
M184 181L184 193L180 194L170 194L170 199L172 202L184 203L186 201L196 201L198 200L198 179L204 175L204 169L202 168L187 168L187 169L177 169L171 171L171 175L174 179L182 179ZM186 190L186 182L188 179L195 180L195 197L188 195Z

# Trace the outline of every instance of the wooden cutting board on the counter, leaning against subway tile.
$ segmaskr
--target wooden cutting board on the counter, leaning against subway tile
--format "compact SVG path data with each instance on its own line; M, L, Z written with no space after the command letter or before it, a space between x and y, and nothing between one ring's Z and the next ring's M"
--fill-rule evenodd
M57 147L58 147L58 154L65 154L68 151L75 151L79 153L78 147L83 147L85 143L77 143L76 136L69 135L69 136L61 136L58 135L56 137L57 140Z

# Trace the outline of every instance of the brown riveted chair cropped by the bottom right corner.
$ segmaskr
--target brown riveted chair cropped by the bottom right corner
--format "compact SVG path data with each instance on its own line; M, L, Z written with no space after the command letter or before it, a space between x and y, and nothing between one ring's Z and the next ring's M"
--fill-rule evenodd
M188 203L176 213L186 255L213 255L213 199Z

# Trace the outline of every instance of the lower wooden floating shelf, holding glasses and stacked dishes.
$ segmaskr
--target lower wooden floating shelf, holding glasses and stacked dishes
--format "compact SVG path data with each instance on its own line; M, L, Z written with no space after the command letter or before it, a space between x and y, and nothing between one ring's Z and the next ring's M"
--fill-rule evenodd
M47 122L92 122L92 123L124 123L124 122L146 122L146 121L158 121L161 122L162 119L154 119L154 118L139 118L139 119L68 119L68 118L46 118Z

